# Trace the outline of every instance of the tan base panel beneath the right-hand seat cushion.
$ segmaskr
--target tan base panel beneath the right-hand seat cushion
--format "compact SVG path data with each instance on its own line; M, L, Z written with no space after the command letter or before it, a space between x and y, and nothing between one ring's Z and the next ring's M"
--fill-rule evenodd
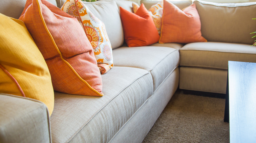
M226 70L180 67L180 89L225 94L226 85Z

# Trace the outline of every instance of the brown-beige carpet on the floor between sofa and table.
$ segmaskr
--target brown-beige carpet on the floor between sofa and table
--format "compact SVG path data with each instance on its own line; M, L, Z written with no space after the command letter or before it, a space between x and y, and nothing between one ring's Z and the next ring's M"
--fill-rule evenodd
M225 143L225 99L184 94L177 90L143 143Z

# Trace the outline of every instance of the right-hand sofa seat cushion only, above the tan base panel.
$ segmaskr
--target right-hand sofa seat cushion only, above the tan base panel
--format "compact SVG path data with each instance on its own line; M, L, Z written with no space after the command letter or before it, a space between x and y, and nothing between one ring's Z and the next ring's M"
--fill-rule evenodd
M180 50L181 66L227 70L228 61L256 62L256 48L248 44L197 42Z

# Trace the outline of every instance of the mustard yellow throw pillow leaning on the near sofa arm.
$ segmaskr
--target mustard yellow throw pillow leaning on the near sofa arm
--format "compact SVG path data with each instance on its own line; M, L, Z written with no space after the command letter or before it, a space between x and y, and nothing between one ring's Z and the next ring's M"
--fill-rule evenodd
M0 93L39 100L53 112L51 75L25 24L0 13Z

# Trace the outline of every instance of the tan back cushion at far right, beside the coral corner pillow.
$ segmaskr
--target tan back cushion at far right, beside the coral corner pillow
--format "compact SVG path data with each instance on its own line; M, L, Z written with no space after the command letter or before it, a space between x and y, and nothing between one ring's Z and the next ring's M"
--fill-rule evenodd
M208 41L253 44L255 3L210 3L194 1L202 23L202 36ZM218 21L218 22L216 22Z

